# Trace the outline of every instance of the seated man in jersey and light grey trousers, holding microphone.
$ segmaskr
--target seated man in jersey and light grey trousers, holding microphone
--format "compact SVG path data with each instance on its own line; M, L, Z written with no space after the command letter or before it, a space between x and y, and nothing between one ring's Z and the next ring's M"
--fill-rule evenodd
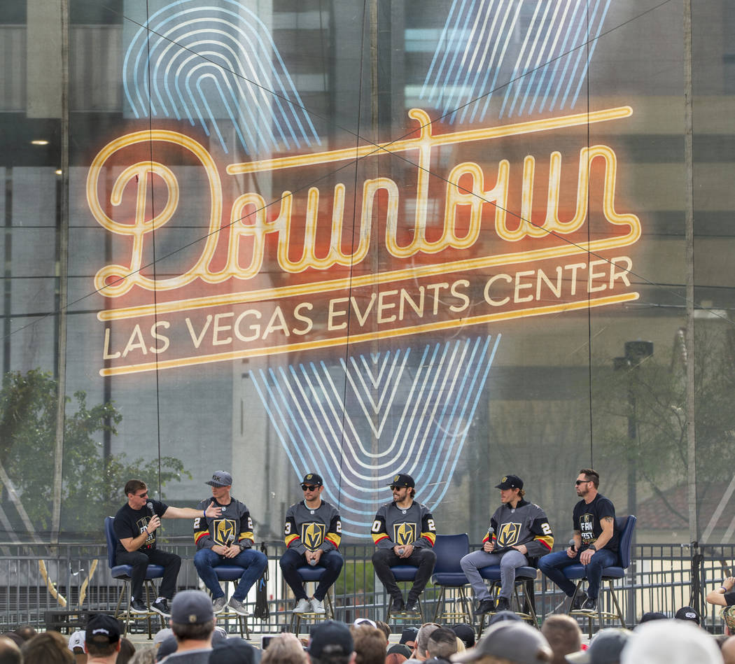
M490 591L478 569L488 565L501 568L501 590L495 610L507 611L515 582L515 570L535 566L540 556L551 551L553 535L544 510L524 499L523 480L506 475L495 488L501 490L501 506L490 519L482 549L468 553L459 564L472 585L478 601L476 613L492 610Z

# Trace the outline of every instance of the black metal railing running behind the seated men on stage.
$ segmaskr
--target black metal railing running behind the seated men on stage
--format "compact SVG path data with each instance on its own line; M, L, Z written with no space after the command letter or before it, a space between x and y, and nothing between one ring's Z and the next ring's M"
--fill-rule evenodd
M275 541L265 544L269 560L270 616L266 621L250 618L251 628L257 632L279 632L290 623L293 599L278 565L284 544ZM168 541L162 548L176 552L183 559L179 589L201 588L192 562L193 544ZM372 544L343 544L340 548L345 565L333 589L337 619L351 622L359 617L384 617L387 596L370 563L373 550ZM728 574L732 560L735 560L734 545L700 546L693 566L689 545L635 546L625 578L614 584L628 627L636 624L646 611L673 616L678 608L691 605L700 611L707 629L722 632L719 610L706 605L703 597ZM692 596L697 580L700 592ZM112 612L122 587L110 575L104 544L0 544L0 632L21 624L43 629L48 612ZM434 616L439 592L438 587L427 586L423 595L425 615ZM607 594L608 591L603 591L600 601L609 606ZM564 600L563 593L540 573L534 585L534 597L539 621L561 610ZM251 613L254 602L252 589L248 595Z

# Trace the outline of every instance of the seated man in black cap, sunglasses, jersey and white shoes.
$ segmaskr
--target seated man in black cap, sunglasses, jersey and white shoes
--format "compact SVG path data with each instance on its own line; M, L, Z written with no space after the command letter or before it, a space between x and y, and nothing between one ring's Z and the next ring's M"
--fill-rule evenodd
M321 475L310 472L301 482L304 499L286 511L284 541L286 552L280 560L284 580L296 599L293 613L326 613L324 598L340 576L344 563L338 549L342 540L342 521L337 508L321 497L324 483ZM311 599L296 571L304 565L326 569Z

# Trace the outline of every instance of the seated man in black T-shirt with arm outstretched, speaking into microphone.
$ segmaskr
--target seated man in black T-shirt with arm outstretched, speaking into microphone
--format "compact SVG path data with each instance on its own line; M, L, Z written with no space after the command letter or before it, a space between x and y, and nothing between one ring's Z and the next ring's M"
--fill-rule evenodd
M115 563L131 565L130 573L130 610L132 613L148 613L143 602L143 581L146 579L148 565L163 567L163 578L156 601L151 610L162 616L170 616L168 602L176 592L176 577L182 559L175 553L156 548L156 530L161 519L196 519L197 516L220 516L221 509L210 502L206 510L193 508L174 508L164 502L148 498L148 487L142 480L129 480L125 485L128 502L115 514L112 527L118 538Z

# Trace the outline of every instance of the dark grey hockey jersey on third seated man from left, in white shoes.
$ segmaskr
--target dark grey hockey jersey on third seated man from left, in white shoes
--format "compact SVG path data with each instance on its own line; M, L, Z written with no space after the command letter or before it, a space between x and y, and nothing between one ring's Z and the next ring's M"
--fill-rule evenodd
M342 521L337 508L323 500L312 510L303 500L286 511L284 541L302 555L308 551L336 551L342 540Z

